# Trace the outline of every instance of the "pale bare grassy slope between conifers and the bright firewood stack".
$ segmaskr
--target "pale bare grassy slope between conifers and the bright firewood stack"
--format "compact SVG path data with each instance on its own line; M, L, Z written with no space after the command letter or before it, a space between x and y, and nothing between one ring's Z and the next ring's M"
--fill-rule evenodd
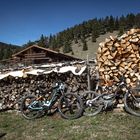
M72 50L74 51L74 56L82 59L87 58L87 54L89 56L89 59L95 58L97 49L99 47L99 43L105 41L106 38L109 38L109 36L116 36L118 32L114 31L113 33L106 33L105 35L100 35L100 37L97 38L97 42L93 43L91 42L91 37L87 38L87 45L88 50L82 51L83 45L81 41L79 41L77 44L72 44ZM62 48L60 50L62 52ZM68 55L71 55L71 53L68 53Z

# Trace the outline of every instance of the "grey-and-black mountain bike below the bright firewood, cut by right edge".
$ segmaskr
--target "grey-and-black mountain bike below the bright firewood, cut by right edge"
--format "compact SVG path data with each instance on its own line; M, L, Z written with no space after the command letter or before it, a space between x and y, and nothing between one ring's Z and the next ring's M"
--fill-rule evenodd
M113 109L119 103L119 99L124 99L125 110L140 117L140 90L138 88L132 90L127 87L125 78L122 78L120 83L115 86L115 91L113 91L114 86L102 88L97 84L95 91L86 91L82 96L84 102L83 114L85 116L97 115L101 111Z

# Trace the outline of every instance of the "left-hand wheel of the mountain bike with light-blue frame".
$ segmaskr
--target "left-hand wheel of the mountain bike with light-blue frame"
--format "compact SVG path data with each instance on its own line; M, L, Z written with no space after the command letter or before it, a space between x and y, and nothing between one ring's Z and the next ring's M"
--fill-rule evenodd
M29 105L31 105L35 101L36 101L36 97L33 95L29 95L23 98L21 102L20 110L24 118L35 119L40 116L40 110L33 110L29 108ZM34 106L39 107L38 101L35 103Z

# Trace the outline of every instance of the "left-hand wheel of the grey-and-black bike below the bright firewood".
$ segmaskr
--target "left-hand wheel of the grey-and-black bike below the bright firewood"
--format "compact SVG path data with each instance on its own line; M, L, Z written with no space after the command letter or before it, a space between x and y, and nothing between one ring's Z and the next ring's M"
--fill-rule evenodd
M94 91L86 91L83 94L84 112L85 116L95 116L102 111L101 98L95 99L99 94ZM94 100L95 99L95 100Z

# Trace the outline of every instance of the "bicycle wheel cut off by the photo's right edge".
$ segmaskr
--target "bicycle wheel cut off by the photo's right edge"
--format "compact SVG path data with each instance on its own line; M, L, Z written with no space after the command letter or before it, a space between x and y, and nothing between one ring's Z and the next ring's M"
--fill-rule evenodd
M140 94L127 92L124 96L124 107L132 115L140 117Z

